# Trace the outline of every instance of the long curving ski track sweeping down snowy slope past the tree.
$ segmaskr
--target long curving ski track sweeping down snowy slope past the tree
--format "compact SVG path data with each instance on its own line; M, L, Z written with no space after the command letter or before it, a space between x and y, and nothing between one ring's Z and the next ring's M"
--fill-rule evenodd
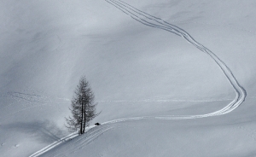
M167 32L172 32L176 34L177 36L185 39L189 44L194 45L197 49L200 49L202 52L204 52L206 55L211 57L212 61L214 61L222 73L224 73L225 77L230 82L230 85L233 87L233 89L236 92L236 97L232 102L230 102L227 106L224 108L215 111L213 113L206 113L206 114L199 114L199 115L162 115L162 116L143 116L143 117L134 117L134 118L128 118L128 119L114 119L111 121L107 121L102 123L102 125L107 125L106 127L102 127L100 129L97 129L96 131L91 131L88 137L84 136L84 138L81 138L79 141L82 141L82 146L80 148L83 148L84 145L89 144L91 141L93 141L96 137L99 137L102 135L105 131L109 131L110 129L113 129L111 127L111 124L114 123L120 123L125 121L131 121L131 120L142 120L142 119L199 119L199 118L206 118L206 117L212 117L212 116L218 116L226 113L230 113L236 108L238 108L242 102L245 101L245 98L247 96L246 90L243 89L243 87L237 82L236 77L231 72L230 68L227 67L227 65L224 63L224 61L220 60L217 55L212 53L210 49L207 49L204 45L198 43L195 41L194 38L192 38L188 32L185 32L182 28L178 26L174 26L165 20L161 20L158 17L155 17L153 15L148 15L147 13L136 9L132 7L130 4L125 3L120 0L105 0L106 2L113 5L115 8L121 10L126 15L131 16L132 19L137 20L138 22L142 23L145 26L151 26L154 28L162 29ZM94 126L90 126L93 128ZM103 129L102 129L103 128ZM32 154L30 157L35 157L40 154L44 154L49 149L54 148L55 146L61 144L62 142L66 142L68 139L71 139L73 137L77 137L78 134L71 134L67 137L63 137L61 140L54 142L47 146L46 148L43 148L36 152L35 154Z

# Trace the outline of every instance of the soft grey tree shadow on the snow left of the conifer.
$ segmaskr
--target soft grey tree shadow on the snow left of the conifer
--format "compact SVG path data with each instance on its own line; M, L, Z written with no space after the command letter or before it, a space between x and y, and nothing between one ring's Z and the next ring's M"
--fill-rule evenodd
M55 142L64 137L67 132L58 128L55 123L49 120L32 122L15 122L9 125L1 125L3 130L20 132L35 137L40 142ZM15 133L14 133L15 134Z

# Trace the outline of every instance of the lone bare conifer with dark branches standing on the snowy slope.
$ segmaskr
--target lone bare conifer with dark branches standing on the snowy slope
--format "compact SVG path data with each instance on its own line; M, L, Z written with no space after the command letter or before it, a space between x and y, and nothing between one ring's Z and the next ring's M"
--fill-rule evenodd
M94 94L84 76L79 80L69 109L72 116L66 118L67 129L70 132L79 131L79 134L84 134L85 127L89 126L90 120L99 114L96 113Z

